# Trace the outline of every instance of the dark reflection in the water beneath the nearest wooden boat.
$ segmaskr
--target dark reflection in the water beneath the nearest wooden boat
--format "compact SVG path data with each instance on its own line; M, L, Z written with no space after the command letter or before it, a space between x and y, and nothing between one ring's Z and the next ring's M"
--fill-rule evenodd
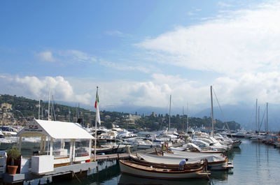
M186 179L186 180L164 180L164 179L146 179L141 177L134 177L131 175L120 175L119 185L137 185L137 184L187 184L187 185L210 185L207 179Z

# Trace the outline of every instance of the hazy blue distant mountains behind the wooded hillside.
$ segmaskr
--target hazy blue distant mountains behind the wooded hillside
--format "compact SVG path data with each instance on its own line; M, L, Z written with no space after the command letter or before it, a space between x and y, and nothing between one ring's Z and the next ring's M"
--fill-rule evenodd
M56 101L56 103L60 103L63 105L69 105L73 107L78 107L78 103L66 103L62 101ZM200 108L206 107L205 105L199 106ZM93 103L92 106L90 105L83 105L80 104L80 108L85 108L89 110L94 110ZM106 111L115 111L115 112L127 112L130 114L137 114L141 115L148 115L152 114L152 112L155 112L156 114L169 114L169 108L155 108L155 107L144 107L144 106L116 106L116 107L107 107L107 108L101 108L101 110ZM279 131L280 130L280 105L274 105L269 104L268 105L268 129L269 131ZM248 105L223 105L222 111L225 116L226 121L236 121L237 123L241 124L242 128L248 129L248 130L255 130L255 107L248 106ZM182 108L172 108L171 114L182 114ZM186 114L186 109L185 109ZM221 121L225 121L223 114L221 113L220 108L215 107L214 108L214 118L220 119ZM265 128L265 105L260 106L260 124L261 125L261 131ZM192 110L189 113L190 117L211 117L211 108L205 108L203 110ZM263 120L262 120L262 117Z

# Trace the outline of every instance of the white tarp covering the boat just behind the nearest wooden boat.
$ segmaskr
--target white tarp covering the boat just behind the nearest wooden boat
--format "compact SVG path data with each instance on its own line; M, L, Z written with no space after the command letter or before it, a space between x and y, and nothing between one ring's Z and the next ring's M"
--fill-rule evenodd
M176 151L177 152L177 151ZM143 158L145 161L151 163L165 163L165 164L172 164L172 165L179 165L180 161L185 158L188 158L187 163L198 163L202 159L207 158L208 162L216 162L216 161L225 161L225 158L221 155L217 154L207 154L207 155L195 155L200 154L197 152L186 152L186 151L179 151L183 153L194 153L194 154L164 154L164 156L157 156L152 154L138 154L140 158Z

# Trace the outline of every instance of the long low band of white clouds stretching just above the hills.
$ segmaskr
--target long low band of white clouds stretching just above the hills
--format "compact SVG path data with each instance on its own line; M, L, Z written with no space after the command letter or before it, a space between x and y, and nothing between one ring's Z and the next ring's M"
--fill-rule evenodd
M124 105L167 108L169 96L172 95L172 108L182 108L188 102L190 110L203 110L210 107L210 85L213 85L222 107L239 103L253 106L255 98L258 98L259 103L280 104L280 72L245 73L238 78L218 77L213 84L201 84L160 73L153 74L151 80L143 82L0 75L1 94L47 100L50 88L55 101L90 106L93 106L96 87L99 86L102 109Z

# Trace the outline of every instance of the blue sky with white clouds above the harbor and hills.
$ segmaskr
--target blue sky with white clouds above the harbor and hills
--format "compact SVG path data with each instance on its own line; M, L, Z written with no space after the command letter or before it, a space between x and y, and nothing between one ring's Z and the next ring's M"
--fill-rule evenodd
M0 94L202 110L280 104L280 1L0 1Z

